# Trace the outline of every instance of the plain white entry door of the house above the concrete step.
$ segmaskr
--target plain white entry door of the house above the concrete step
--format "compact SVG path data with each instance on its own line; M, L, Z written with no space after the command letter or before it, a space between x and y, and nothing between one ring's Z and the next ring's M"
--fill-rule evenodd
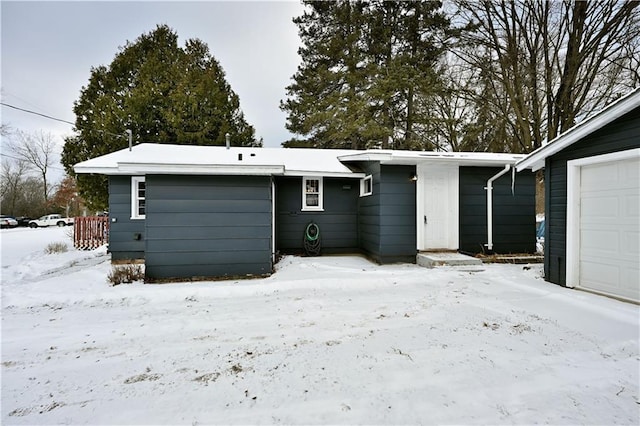
M458 249L458 166L419 164L418 250Z

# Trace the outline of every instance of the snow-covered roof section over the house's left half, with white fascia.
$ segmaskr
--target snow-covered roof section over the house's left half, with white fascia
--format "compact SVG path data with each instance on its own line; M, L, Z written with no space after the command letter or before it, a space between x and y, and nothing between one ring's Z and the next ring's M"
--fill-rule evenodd
M76 164L76 173L105 175L206 174L346 176L360 178L338 160L352 151L140 144Z

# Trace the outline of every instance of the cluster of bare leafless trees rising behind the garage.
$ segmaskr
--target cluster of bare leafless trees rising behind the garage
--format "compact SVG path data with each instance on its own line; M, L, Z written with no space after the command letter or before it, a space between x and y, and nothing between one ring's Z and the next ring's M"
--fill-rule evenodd
M456 5L471 28L455 52L479 82L474 102L512 152L538 148L639 84L636 1Z

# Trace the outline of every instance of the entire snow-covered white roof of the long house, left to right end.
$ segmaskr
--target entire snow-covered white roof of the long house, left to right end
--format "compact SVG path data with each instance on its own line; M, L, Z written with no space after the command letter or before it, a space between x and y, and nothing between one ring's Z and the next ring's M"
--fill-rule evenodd
M424 162L467 166L515 164L523 155L478 152L249 148L145 143L76 164L76 173L105 175L201 174L364 177L344 163L379 161L415 165Z

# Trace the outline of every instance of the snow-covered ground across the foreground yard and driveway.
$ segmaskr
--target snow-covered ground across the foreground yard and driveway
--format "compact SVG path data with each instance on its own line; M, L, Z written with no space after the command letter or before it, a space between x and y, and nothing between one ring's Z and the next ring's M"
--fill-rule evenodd
M0 233L2 424L640 423L639 307L540 265L110 287L68 233Z

